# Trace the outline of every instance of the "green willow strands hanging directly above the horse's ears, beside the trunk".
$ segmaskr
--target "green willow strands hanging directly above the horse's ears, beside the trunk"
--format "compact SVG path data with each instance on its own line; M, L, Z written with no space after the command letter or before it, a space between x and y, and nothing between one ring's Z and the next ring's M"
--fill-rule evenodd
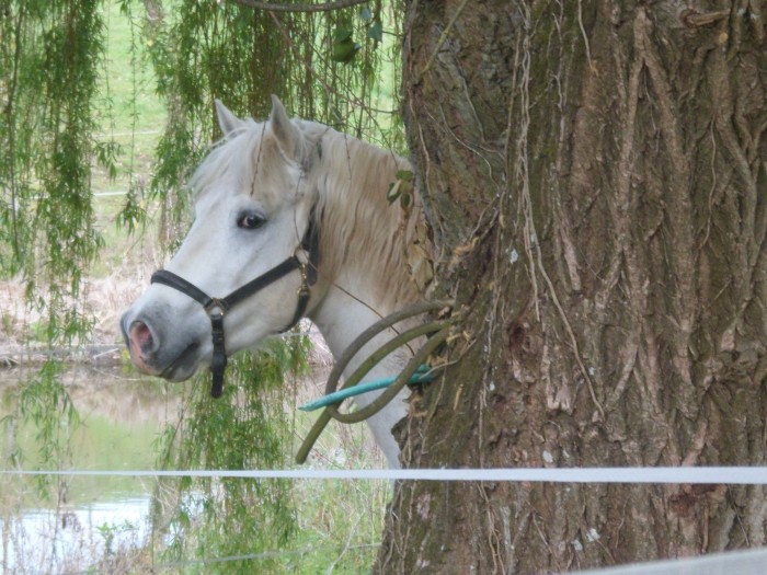
M297 116L401 151L399 47L388 32L400 26L398 2L313 13L216 0L145 4L148 51L169 114L150 186L172 216L165 225L184 214L188 172L220 137L214 99L242 117L264 118L277 94Z

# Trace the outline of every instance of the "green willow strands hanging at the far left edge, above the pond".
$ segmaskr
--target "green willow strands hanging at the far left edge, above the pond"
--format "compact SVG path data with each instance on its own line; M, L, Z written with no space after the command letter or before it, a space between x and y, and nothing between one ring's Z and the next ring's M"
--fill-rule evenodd
M92 164L116 151L95 136L100 3L7 1L0 11L0 273L24 278L49 341L88 331L77 302L102 243Z

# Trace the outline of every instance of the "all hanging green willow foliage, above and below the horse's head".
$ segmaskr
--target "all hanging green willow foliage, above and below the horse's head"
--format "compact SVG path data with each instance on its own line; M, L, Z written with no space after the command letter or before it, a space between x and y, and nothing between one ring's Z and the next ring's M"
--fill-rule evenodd
M286 0L290 3L327 2ZM157 229L169 251L183 238L191 216L185 182L220 137L214 99L242 117L263 118L274 93L296 116L403 151L400 0L311 12L247 4L116 1L118 18L131 23L133 73L151 71L151 89L168 118L158 126L162 135L151 173L134 175L133 161L121 164L123 153L133 158L134 140L121 140L126 148L121 149L114 136L100 135L114 127L112 76L131 73L108 61L113 7L105 0L0 2L0 276L26 286L30 304L44 318L36 326L44 337L36 340L62 345L89 335L92 318L80 300L103 245L93 196L102 174L127 175L117 217L124 230ZM133 89L139 85L134 82ZM159 464L285 464L293 430L283 412L285 392L278 390L286 375L304 365L306 353L306 340L293 338L234 361L218 402L208 396L205 375L183 388L180 422L158 441ZM76 405L60 382L59 366L48 364L41 373L24 390L18 416L32 422L46 441L41 464L65 467L68 435L51 442L45 434L58 429L56 422L75 426ZM284 549L295 541L290 485L184 481L163 487L169 485L173 495L158 497L171 505L158 504L154 541L162 547L170 533L173 561ZM368 519L366 525L376 524ZM241 572L252 563L221 565L219 572ZM260 567L268 571L265 563ZM201 571L208 568L199 563Z

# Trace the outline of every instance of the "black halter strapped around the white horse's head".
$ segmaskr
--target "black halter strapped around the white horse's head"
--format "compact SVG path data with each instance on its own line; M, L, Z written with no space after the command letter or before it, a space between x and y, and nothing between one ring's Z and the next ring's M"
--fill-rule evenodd
M308 262L302 262L298 257L297 254L299 251L304 251L308 254ZM298 303L296 304L296 312L293 315L293 320L290 320L290 323L283 332L289 330L304 317L307 306L309 304L309 297L311 296L309 288L317 281L319 257L319 238L312 215L309 220L309 228L301 240L299 249L296 250L296 253L244 286L237 288L226 298L211 298L194 284L191 284L183 277L175 275L173 272L168 272L167 269L159 269L152 274L152 284L162 284L172 287L198 301L210 318L213 335L213 360L210 361L213 387L210 388L210 395L220 398L224 392L224 371L227 369L227 353L224 340L224 314L242 300L255 295L261 289L288 275L290 272L298 269L301 273L301 287L298 289Z

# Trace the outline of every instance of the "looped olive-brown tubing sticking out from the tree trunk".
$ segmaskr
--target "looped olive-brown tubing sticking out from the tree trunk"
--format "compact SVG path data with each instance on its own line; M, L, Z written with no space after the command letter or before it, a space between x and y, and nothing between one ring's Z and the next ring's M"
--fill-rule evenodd
M325 383L325 394L333 393L336 391L339 379L341 379L341 375L343 373L344 369L346 369L348 363L375 336L403 320L413 318L415 315L421 315L422 313L426 313L430 311L433 312L440 311L444 309L451 309L454 303L455 302L453 300L437 300L413 303L412 306L408 306L407 308L403 308L400 311L392 313L391 315L387 315L382 320L370 325L370 327L365 330L362 334L359 334L359 336L357 336L357 338L354 342L352 342L352 344L344 350L343 354L341 354L341 357L339 357L339 359L335 361L335 366L330 372L330 376L328 377L328 382ZM410 379L413 377L413 373L415 373L420 366L425 363L426 358L437 348L439 344L447 340L449 327L453 323L456 322L457 319L457 315L451 315L447 319L437 319L430 323L412 327L399 334L397 337L388 341L386 344L381 345L376 352L370 354L370 356L367 359L365 359L365 361L363 361L362 365L346 379L341 389L347 389L353 386L356 386L367 375L367 372L370 371L370 369L373 369L376 365L378 365L378 363L381 361L381 359L384 359L398 347L408 344L416 337L434 334L417 352L415 352L415 354L413 354L413 357L410 358L410 361L408 361L404 369L399 373L393 383L389 386L369 405L366 405L362 410L358 410L353 413L341 413L339 411L341 401L332 405L328 405L322 411L317 422L314 422L314 425L307 434L306 439L304 439L301 447L296 453L296 462L304 463L307 460L309 451L311 451L311 448L317 442L317 439L320 437L320 434L324 430L325 426L328 425L328 423L330 423L331 419L336 419L337 422L347 424L358 423L367 419L368 417L371 417L380 410L382 410L386 405L388 405L388 403L392 399L394 399L397 394L402 390L402 388L410 381Z

